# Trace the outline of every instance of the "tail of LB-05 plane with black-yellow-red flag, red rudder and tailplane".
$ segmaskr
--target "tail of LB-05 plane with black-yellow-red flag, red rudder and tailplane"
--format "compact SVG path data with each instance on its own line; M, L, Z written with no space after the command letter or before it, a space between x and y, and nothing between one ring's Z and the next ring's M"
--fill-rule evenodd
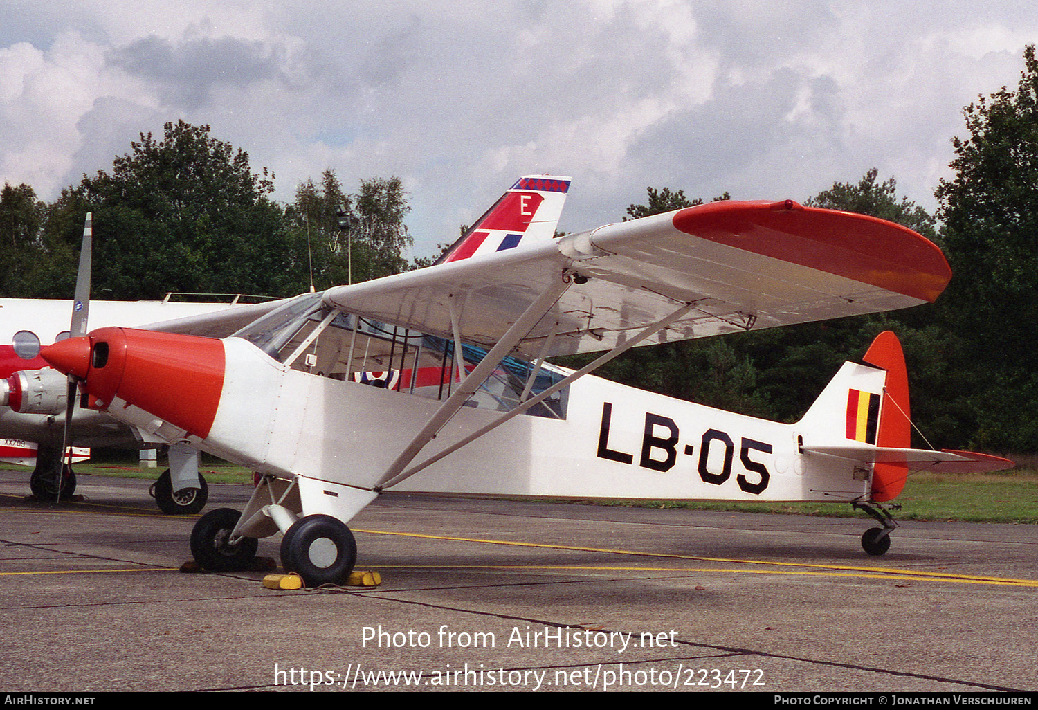
M904 353L897 336L884 331L863 363L844 363L800 419L800 449L872 464L875 502L896 498L910 470L979 473L1015 465L988 454L910 448L909 417Z

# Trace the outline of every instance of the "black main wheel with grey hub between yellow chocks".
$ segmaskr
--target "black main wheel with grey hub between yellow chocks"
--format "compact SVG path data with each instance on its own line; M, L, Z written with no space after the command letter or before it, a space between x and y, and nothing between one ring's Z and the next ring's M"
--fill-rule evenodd
M307 586L338 584L357 562L357 542L346 524L330 515L297 520L281 540L281 566Z

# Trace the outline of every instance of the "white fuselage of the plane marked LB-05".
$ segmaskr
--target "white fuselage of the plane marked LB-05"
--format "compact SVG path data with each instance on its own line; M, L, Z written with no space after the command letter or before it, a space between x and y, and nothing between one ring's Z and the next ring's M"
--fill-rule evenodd
M134 346L132 339L129 345ZM168 441L188 440L262 473L354 490L377 488L440 404L406 391L293 370L241 338L211 340L206 347L209 354L192 357L192 363L197 366L212 358L207 370L221 370L222 378L196 377L190 401L185 404L182 398L179 409L157 409L137 399L145 388L138 393L132 383L118 383L110 403L104 403L105 393L94 391L114 416ZM881 387L880 371L862 368L856 377L863 388ZM91 375L91 380L99 378ZM154 392L154 383L146 389ZM462 407L416 462L497 416L495 411ZM397 488L771 501L849 501L868 493L867 472L855 472L851 462L800 453L803 436L797 425L586 376L570 385L565 418L514 417ZM342 490L329 496L350 497ZM330 501L330 510L348 520L352 513L337 502ZM305 514L313 512L306 510L305 499L303 507Z

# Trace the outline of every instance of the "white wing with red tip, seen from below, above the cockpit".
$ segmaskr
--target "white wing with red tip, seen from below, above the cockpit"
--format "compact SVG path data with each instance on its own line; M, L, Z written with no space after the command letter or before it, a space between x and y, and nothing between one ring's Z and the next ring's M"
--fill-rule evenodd
M527 355L594 352L694 308L644 344L932 302L940 250L884 220L792 201L702 204L348 286L325 303L420 332L497 343L556 279L572 279L520 342ZM452 313L454 316L452 316Z

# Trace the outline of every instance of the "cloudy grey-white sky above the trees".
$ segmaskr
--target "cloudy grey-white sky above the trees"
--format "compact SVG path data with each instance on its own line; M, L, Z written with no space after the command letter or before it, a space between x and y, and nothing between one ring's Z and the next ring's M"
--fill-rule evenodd
M561 228L646 187L804 199L871 167L933 210L962 107L1014 86L1022 0L0 0L0 183L54 199L166 121L276 175L399 175L417 255L516 178Z

